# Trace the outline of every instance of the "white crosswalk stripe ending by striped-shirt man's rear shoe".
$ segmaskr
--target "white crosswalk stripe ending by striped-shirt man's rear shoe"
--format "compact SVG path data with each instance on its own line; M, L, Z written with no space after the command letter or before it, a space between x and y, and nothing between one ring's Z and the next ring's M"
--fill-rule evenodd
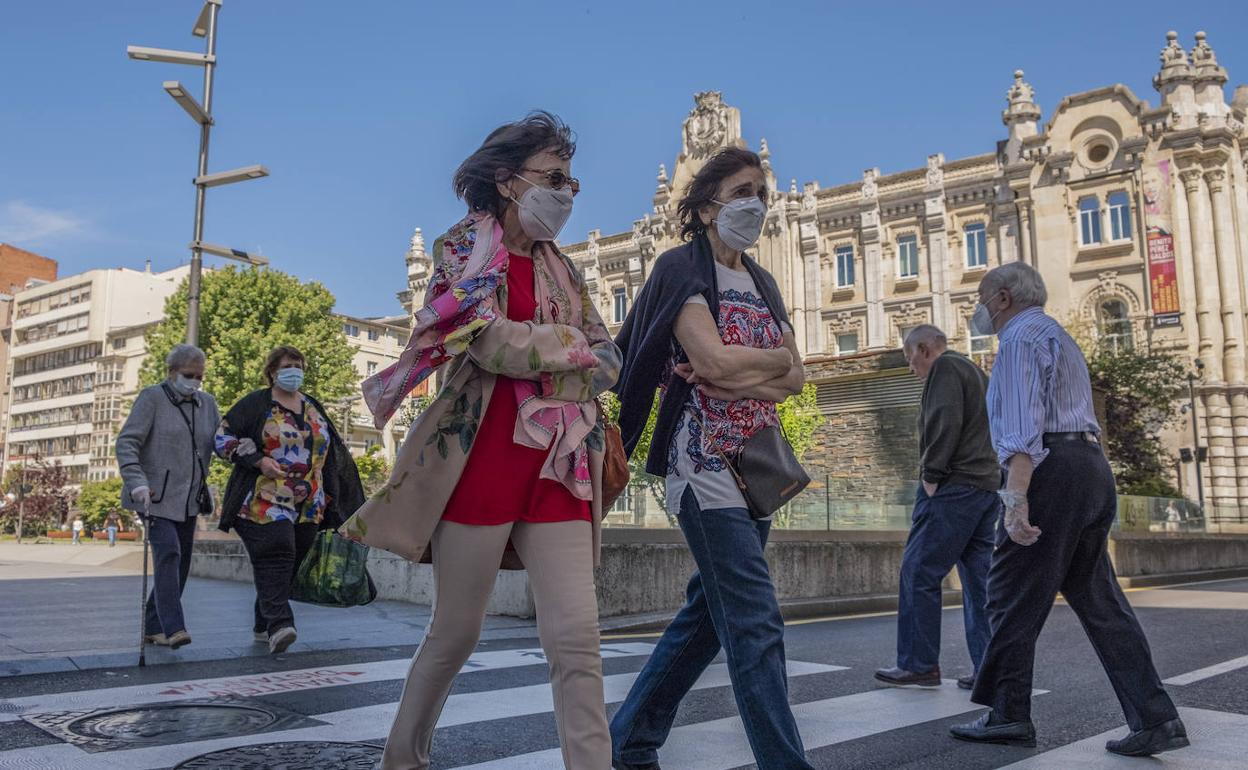
M952 680L945 680L945 686L931 690L889 688L815 700L794 706L792 713L810 751L982 708ZM558 749L550 749L464 765L461 770L549 770L560 766L560 758ZM675 728L659 750L661 765L680 770L729 770L753 761L740 716Z

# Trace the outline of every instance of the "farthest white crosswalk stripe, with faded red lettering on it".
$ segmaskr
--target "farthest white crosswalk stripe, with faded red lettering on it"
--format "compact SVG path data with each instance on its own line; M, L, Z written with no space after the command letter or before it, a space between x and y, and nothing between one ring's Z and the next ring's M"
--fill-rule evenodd
M604 644L602 648L603 658L649 655L651 651L654 651L654 645L644 643ZM377 660L373 663L327 665L314 669L272 671L268 674L218 676L215 679L197 679L187 681L160 681L125 688L102 688L99 690L75 690L72 693L29 695L4 700L2 703L5 704L6 710L0 711L0 723L21 719L21 714L24 713L77 711L84 709L124 706L136 703L165 703L170 700L183 700L187 698L215 698L225 695L256 698L258 695L316 690L347 684L388 681L404 679L407 676L407 669L411 664L411 658L396 658L391 660ZM463 670L488 671L539 664L545 664L545 655L543 655L540 648L493 650L473 653L473 655L468 658L468 663L464 664ZM15 711L10 711L10 708L15 709Z

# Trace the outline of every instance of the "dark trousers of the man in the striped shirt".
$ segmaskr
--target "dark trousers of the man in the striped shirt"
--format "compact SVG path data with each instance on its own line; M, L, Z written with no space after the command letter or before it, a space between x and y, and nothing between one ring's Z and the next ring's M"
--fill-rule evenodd
M1040 635L1057 592L1075 610L1132 730L1174 719L1144 631L1109 563L1106 543L1117 513L1113 474L1096 444L1056 442L1027 493L1032 545L1001 527L988 572L992 640L971 700L1007 721L1031 719L1031 685Z

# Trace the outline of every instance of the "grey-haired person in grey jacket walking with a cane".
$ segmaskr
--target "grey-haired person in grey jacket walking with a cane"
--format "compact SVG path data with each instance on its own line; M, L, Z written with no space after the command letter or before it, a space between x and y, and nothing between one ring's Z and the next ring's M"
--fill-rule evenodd
M221 416L216 399L200 392L203 351L175 346L166 364L165 382L144 388L135 399L117 436L117 464L124 482L121 504L144 517L145 538L152 547L154 585L144 610L144 641L177 649L191 643L182 589L191 573L196 517L212 512L207 468Z

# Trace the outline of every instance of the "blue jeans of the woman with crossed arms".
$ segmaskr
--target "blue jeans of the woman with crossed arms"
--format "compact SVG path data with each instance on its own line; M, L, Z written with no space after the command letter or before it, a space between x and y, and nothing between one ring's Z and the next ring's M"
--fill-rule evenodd
M698 572L685 605L612 719L615 759L630 765L658 761L676 706L723 644L760 770L809 770L789 708L784 621L763 558L770 522L755 522L744 508L701 510L691 489L685 489L676 519Z

